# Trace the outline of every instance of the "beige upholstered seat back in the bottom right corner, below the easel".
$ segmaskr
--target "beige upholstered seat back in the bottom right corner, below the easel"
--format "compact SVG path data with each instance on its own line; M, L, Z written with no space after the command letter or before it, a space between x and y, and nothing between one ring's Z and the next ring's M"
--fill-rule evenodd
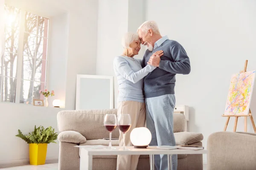
M256 170L255 133L212 133L207 150L208 170Z

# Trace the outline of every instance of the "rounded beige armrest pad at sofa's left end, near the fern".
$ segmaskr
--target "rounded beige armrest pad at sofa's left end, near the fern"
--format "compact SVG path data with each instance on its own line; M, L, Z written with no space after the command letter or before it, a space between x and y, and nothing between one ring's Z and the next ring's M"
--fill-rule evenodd
M58 134L58 140L60 142L69 142L74 144L82 144L86 142L86 138L81 133L67 130Z

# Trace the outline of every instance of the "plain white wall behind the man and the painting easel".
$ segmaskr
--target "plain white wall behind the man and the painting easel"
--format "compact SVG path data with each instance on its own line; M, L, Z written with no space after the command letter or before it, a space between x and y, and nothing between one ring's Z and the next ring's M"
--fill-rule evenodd
M191 73L176 77L176 104L190 107L189 131L203 133L204 146L211 133L224 129L231 75L243 70L245 59L247 70L256 69L255 8L254 0L147 0L146 19L155 20L161 34L180 42L190 57ZM255 103L256 88L251 103L256 118ZM233 125L231 118L227 130ZM239 118L237 131L243 125Z

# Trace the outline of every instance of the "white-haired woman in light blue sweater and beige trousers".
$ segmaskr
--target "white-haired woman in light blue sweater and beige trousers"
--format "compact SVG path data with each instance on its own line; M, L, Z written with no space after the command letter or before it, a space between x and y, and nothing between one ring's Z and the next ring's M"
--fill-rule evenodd
M119 85L117 114L130 114L131 128L125 133L123 141L120 131L119 146L125 142L125 146L131 146L130 134L135 127L145 127L145 98L143 95L143 78L156 67L141 66L141 61L134 59L140 51L140 38L137 34L126 33L122 39L123 53L113 62L114 71ZM155 55L162 56L163 51L157 51ZM117 170L136 170L139 161L137 155L122 155L117 157Z

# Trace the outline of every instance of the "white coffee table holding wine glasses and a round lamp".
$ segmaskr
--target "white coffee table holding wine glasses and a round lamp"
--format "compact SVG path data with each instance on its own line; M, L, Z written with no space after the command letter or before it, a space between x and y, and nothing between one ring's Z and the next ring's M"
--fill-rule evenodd
M75 146L80 149L80 170L93 170L94 155L149 155L150 169L154 170L153 155L168 155L168 170L172 169L171 156L175 154L207 154L207 150L159 150L159 149L136 149L133 146L127 147L129 150L122 150L122 147L115 147L115 150L106 148L93 148L93 146Z

